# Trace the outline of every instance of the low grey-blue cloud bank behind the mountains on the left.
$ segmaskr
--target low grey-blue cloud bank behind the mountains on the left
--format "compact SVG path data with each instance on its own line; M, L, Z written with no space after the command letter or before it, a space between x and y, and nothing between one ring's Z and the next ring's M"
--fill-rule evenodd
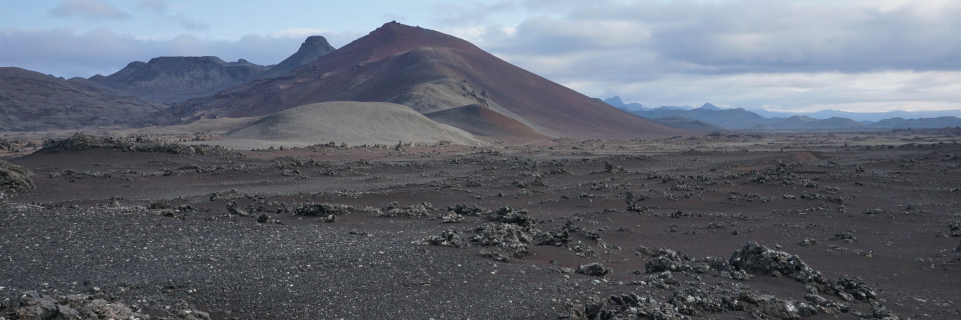
M310 33L332 43L346 43L354 33ZM274 64L297 52L303 37L290 32L247 35L238 39L207 39L190 35L149 38L117 35L106 28L88 33L73 29L0 30L0 65L18 66L66 78L111 74L129 62L163 56L216 56L225 61L245 59Z

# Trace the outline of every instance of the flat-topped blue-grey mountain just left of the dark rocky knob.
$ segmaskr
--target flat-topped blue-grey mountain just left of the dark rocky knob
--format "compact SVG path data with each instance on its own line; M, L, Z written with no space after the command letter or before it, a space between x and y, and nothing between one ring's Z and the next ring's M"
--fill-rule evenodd
M160 57L131 62L110 76L90 80L117 91L159 101L184 101L207 96L256 79L266 66L217 57Z

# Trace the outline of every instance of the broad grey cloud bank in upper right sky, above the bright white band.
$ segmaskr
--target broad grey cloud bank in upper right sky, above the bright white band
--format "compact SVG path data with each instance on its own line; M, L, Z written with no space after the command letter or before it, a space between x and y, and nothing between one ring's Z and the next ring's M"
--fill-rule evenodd
M609 50L621 51L623 60L655 57L611 72L663 65L705 74L961 70L957 1L611 1L561 7L573 9L530 17L512 36L480 38L481 47L544 60L610 56ZM528 2L528 8L557 10L541 1Z

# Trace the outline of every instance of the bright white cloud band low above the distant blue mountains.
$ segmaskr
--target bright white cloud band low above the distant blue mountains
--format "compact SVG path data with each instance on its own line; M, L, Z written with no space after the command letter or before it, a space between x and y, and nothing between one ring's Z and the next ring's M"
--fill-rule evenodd
M961 71L871 73L782 72L671 74L652 81L575 81L580 92L645 106L701 106L705 102L769 111L961 110Z

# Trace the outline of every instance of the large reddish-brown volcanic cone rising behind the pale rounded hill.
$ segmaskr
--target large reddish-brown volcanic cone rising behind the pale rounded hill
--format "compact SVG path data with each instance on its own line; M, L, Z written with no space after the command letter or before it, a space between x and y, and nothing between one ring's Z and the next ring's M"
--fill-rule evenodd
M281 77L193 99L160 115L170 122L259 116L327 101L390 102L421 113L477 105L513 119L516 123L511 125L529 127L537 135L530 139L688 133L607 106L463 39L397 22L386 23Z

